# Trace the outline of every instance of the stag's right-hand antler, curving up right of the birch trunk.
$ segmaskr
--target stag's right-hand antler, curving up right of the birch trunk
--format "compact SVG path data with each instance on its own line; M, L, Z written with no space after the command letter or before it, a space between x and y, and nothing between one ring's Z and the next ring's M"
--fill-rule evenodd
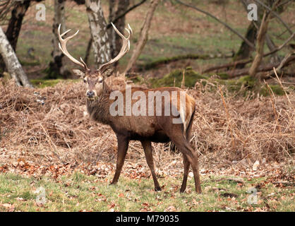
M124 57L124 55L130 49L130 39L131 39L131 36L133 35L133 31L132 31L130 25L128 24L128 28L125 28L128 32L128 37L125 37L124 35L122 35L121 32L119 32L119 30L116 28L116 26L113 23L112 23L112 25L113 25L113 28L116 31L116 33L122 38L123 44L122 44L119 54L114 59L111 59L109 62L102 64L102 66L100 66L100 69L97 70L97 71L100 71L100 73L103 73L104 70L107 69L107 66L109 66L110 64L114 64L114 62L119 61L119 59Z

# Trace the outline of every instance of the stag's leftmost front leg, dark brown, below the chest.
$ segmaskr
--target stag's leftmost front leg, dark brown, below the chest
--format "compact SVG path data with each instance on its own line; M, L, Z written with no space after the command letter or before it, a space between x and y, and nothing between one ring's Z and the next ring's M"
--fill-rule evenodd
M118 140L118 153L117 153L117 159L116 159L116 172L114 174L114 179L111 184L116 184L116 182L118 182L121 169L124 165L124 160L126 157L128 144L129 144L128 138L124 136L117 136L117 140Z

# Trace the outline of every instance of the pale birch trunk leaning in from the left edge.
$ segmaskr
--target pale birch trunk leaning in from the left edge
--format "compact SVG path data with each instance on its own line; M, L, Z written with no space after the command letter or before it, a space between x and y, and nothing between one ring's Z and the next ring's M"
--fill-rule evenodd
M11 74L11 77L16 80L18 85L23 85L25 87L32 87L28 81L28 77L23 71L16 53L13 50L13 47L8 42L6 35L4 34L2 28L0 27L0 54L4 59L8 73Z

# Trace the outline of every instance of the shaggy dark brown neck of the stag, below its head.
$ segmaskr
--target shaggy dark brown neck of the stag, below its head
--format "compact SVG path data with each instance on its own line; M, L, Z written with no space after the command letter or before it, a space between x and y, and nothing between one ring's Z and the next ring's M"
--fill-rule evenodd
M103 81L102 93L95 100L87 100L87 111L93 120L99 121L102 124L110 123L109 106L111 104L109 102L109 95L111 92L112 90L107 83Z

